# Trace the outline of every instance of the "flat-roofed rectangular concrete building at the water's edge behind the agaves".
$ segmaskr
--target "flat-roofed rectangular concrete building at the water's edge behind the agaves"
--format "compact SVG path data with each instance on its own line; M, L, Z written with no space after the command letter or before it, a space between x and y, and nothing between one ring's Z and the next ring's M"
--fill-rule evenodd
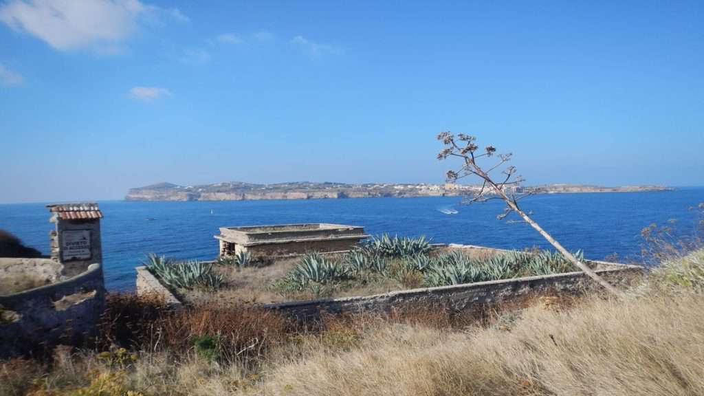
M367 237L363 227L327 223L222 227L215 235L220 256L247 252L253 258L345 252Z

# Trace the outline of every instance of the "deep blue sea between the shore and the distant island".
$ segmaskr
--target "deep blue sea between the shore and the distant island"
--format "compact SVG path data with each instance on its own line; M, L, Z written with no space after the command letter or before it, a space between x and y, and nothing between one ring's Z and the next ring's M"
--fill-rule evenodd
M434 242L490 247L548 247L524 223L496 220L501 202L459 206L458 197L317 199L245 202L100 202L103 259L108 288L134 288L134 267L148 252L176 258L213 259L222 226L273 223L363 225L367 233L427 235ZM640 231L650 223L679 220L692 233L699 220L691 206L704 202L704 188L674 192L551 194L524 199L524 209L567 249L589 259L617 253L637 259ZM458 214L443 214L452 207ZM210 214L210 211L213 214ZM156 220L149 221L148 218ZM49 254L49 212L44 204L0 205L0 228Z

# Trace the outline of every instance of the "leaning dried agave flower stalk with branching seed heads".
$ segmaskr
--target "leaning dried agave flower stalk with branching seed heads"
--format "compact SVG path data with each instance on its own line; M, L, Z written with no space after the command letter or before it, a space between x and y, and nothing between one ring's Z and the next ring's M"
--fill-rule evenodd
M476 137L470 135L464 135L462 133L458 134L456 137L451 132L440 132L437 136L438 140L441 140L445 144L445 148L438 154L438 159L447 159L449 156L456 156L463 159L463 166L459 171L448 171L446 173L448 182L456 182L460 178L464 178L469 175L476 175L482 178L482 189L479 192L474 193L469 202L486 202L490 199L502 199L506 203L506 207L502 214L496 216L499 220L503 220L509 214L515 212L520 216L525 223L528 223L532 228L534 228L540 235L543 236L548 242L550 242L558 252L562 253L574 266L581 269L586 273L587 276L596 280L596 282L603 286L609 292L613 294L619 294L620 292L616 290L615 287L606 282L601 276L598 276L589 266L579 261L572 253L570 253L565 247L560 245L560 242L555 240L552 235L548 234L546 230L543 230L541 226L536 223L529 214L523 211L518 205L518 201L531 195L532 191L517 193L520 187L520 183L524 179L520 175L516 175L515 166L508 166L502 171L505 175L502 177L503 181L496 182L494 178L489 175L491 171L496 170L501 167L504 163L510 161L511 154L498 154L498 161L493 165L484 170L482 166L477 163L477 159L492 157L496 154L496 147L486 146L484 152L477 152L479 146L474 142L477 140Z

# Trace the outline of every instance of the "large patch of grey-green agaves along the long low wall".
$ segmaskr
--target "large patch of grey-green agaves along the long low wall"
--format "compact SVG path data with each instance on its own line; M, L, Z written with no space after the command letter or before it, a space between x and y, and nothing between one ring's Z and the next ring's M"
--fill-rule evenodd
M582 252L574 254L583 259ZM270 286L287 298L328 297L349 290L461 285L572 271L562 254L545 251L470 255L433 252L425 237L382 235L341 256L312 252Z

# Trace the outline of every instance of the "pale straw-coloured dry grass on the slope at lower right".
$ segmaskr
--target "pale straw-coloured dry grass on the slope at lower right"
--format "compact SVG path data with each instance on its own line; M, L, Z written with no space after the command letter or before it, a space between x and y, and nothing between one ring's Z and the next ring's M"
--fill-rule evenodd
M268 395L702 395L704 298L533 307L511 328L386 326L268 373Z

